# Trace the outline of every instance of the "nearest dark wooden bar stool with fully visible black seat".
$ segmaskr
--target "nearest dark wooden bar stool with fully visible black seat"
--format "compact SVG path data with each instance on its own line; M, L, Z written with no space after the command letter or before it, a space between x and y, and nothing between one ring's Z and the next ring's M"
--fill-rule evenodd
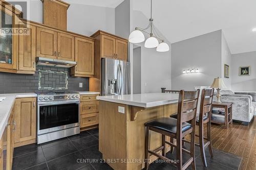
M148 162L151 155L155 155L160 159L175 165L177 169L186 169L190 164L193 169L196 169L195 165L195 127L196 127L196 114L198 104L199 90L197 91L184 91L179 93L178 102L178 119L172 117L161 117L150 122L145 123L146 135L145 135L145 169L148 169ZM191 124L187 123L191 120ZM150 150L150 130L162 134L161 147ZM186 135L191 135L190 151L182 148L182 138ZM176 138L177 145L173 142L165 141L165 136ZM165 143L177 147L177 162L165 157ZM162 151L162 155L158 154ZM182 163L182 152L190 155L190 158L186 163ZM179 161L178 161L179 160Z

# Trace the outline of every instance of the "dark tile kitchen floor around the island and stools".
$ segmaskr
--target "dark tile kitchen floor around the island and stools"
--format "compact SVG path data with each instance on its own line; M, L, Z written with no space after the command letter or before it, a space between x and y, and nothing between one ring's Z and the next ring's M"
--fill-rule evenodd
M202 165L199 148L196 147L197 169L238 169L241 158L214 150L214 158L210 158L206 152L208 167ZM168 153L167 157L176 159L176 152ZM13 169L57 170L57 169L112 169L106 163L86 161L77 162L81 159L100 160L101 153L98 151L98 129L81 132L79 135L62 138L43 144L30 144L14 149ZM187 155L184 154L186 161ZM168 163L154 162L150 169L176 169ZM190 167L188 167L190 169Z

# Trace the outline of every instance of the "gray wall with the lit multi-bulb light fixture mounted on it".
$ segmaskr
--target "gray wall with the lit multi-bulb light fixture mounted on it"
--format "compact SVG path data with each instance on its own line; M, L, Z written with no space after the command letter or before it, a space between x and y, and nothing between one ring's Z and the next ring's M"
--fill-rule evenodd
M222 76L221 30L172 44L172 89L194 90L210 86ZM200 73L182 74L184 69L199 68Z

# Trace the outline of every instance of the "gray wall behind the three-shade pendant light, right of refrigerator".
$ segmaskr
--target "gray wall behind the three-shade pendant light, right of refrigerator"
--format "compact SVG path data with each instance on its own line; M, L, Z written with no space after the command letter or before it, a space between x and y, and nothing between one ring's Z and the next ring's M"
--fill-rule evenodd
M148 18L140 11L133 11L133 29L145 28ZM155 28L162 38L166 38ZM148 38L148 36L145 36ZM170 43L166 41L166 43ZM171 88L171 51L157 52L156 48L145 48L144 42L136 44L141 46L141 93L160 92L161 87Z

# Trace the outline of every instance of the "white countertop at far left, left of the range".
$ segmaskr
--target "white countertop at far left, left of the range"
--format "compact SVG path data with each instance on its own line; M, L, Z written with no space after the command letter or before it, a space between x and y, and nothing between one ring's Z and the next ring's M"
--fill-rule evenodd
M34 98L36 93L12 93L0 94L0 99L5 98L0 102L0 138L2 137L5 127L8 124L8 119L11 114L11 108L14 105L16 98Z

